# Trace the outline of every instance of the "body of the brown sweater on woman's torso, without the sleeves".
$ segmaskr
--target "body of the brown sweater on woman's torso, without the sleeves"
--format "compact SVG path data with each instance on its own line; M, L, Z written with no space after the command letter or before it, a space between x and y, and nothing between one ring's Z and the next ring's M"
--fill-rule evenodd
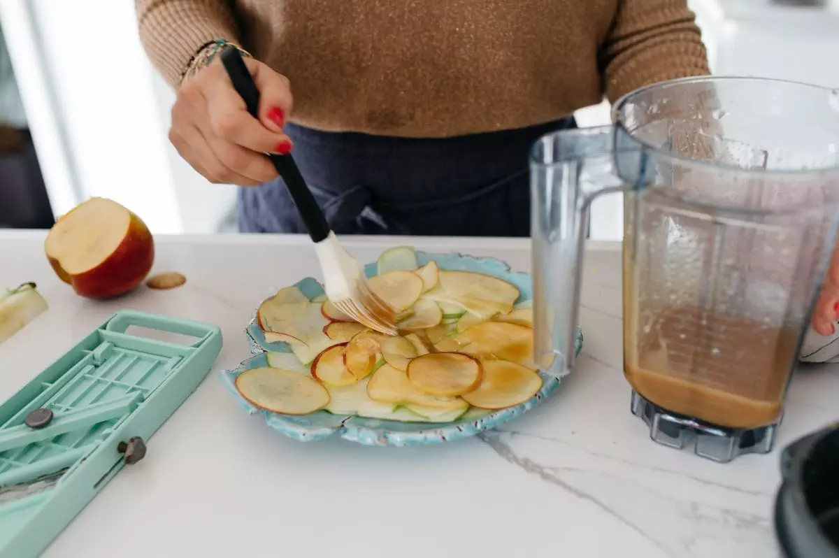
M443 137L544 123L602 99L618 0L237 0L242 39L291 82L292 119Z

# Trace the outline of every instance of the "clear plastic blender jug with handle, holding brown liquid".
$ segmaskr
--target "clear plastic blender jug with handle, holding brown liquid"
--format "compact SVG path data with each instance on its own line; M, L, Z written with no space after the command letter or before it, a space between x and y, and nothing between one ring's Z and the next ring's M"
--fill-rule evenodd
M613 125L531 153L534 348L574 365L591 201L623 192L623 362L654 441L772 449L836 243L839 91L702 77L624 96Z

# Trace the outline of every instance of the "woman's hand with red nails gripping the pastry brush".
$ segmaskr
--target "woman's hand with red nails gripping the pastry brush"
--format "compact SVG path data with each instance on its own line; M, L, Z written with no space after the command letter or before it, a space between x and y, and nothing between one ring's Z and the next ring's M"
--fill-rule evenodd
M264 154L287 154L292 147L283 133L292 101L289 81L262 62L243 60L260 93L258 119L248 113L220 56L180 86L172 107L169 141L216 184L255 186L273 180L277 171Z

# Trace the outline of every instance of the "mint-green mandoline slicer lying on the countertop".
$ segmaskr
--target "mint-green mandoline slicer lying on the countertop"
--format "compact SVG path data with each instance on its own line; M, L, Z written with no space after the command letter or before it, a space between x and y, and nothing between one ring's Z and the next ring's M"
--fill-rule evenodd
M166 331L191 344L127 333ZM0 558L34 558L206 377L217 326L117 312L0 405Z

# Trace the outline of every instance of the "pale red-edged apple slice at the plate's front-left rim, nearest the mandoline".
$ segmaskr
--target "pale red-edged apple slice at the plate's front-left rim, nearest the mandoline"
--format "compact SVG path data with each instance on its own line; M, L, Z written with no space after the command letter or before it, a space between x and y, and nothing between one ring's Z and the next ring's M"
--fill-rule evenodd
M329 392L314 378L282 368L260 367L236 377L236 389L259 409L284 415L308 415L329 404Z

